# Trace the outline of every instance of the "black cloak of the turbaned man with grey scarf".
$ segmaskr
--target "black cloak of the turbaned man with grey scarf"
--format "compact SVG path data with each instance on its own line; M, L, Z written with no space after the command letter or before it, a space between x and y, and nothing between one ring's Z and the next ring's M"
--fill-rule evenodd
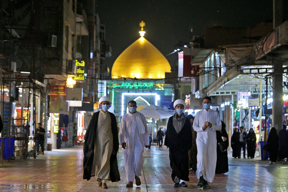
M184 114L182 114L184 115ZM183 128L177 134L173 126L173 116L169 118L164 145L169 147L172 180L175 176L189 181L188 150L192 147L192 131L190 120L186 118Z

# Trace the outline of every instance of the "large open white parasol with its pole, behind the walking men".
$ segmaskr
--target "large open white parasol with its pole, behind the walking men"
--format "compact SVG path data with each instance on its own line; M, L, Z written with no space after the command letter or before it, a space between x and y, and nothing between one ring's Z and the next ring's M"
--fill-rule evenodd
M153 118L153 119L167 119L174 115L174 113L168 113L164 111L164 109L162 109L161 107L158 107L153 104L143 108L139 112L142 113L144 117ZM154 120L152 120L152 142L153 142L153 133L154 133L153 125L154 125Z

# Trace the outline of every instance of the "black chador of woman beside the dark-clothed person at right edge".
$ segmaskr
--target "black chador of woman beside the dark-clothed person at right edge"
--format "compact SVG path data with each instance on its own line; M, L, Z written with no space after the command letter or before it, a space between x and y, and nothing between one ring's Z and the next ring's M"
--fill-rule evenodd
M271 128L268 135L267 145L269 151L269 160L272 162L276 162L278 158L279 143L277 131L274 127Z

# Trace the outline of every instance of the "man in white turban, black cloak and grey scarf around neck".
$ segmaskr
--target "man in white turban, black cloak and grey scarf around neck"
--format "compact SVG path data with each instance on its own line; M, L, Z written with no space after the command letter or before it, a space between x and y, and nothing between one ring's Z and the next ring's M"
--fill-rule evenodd
M173 104L176 113L168 120L164 145L169 147L170 167L174 187L188 187L188 150L192 147L191 123L183 113L185 101L177 99Z

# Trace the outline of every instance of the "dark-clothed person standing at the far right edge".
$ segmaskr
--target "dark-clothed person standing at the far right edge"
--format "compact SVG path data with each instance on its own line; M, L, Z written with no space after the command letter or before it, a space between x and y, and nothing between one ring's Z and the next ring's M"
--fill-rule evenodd
M283 125L283 129L278 132L279 136L279 153L278 159L283 160L288 158L288 131L286 131L286 125Z

